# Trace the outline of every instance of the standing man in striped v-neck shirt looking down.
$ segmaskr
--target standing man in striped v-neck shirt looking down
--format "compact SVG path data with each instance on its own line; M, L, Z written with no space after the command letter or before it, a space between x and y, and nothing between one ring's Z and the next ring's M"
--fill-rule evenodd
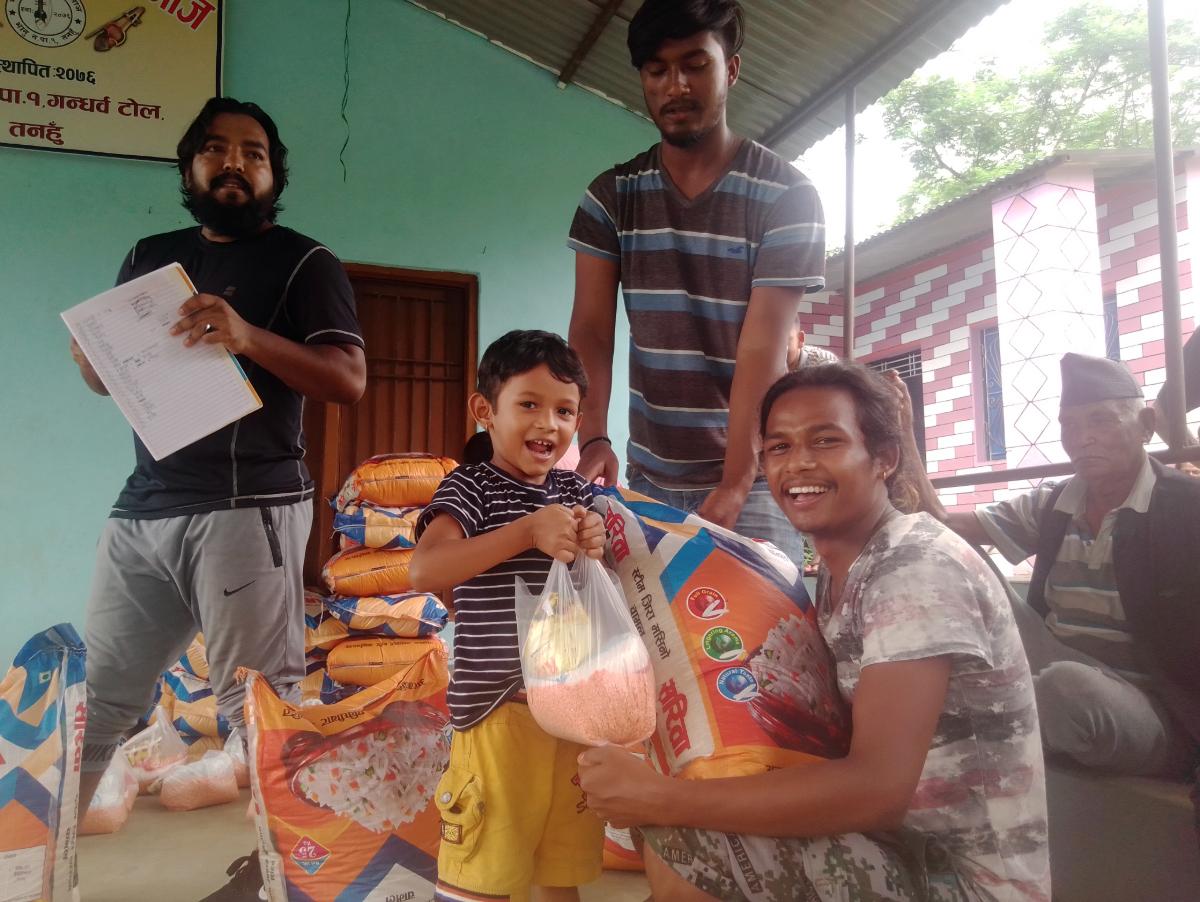
M578 473L617 477L606 423L620 284L630 487L800 560L760 479L755 417L800 299L824 287L824 222L811 182L726 124L742 24L733 0L647 0L630 22L662 140L596 178L571 224L570 344L592 384Z

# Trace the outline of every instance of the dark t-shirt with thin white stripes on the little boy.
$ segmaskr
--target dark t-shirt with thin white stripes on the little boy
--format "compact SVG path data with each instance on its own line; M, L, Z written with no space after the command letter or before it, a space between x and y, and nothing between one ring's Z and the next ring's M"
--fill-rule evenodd
M592 487L570 470L551 470L533 486L494 464L460 467L442 480L416 524L420 536L434 517L446 513L470 539L508 525L551 504L592 510ZM497 564L455 587L454 675L446 700L455 729L474 727L524 687L517 648L515 608L520 577L541 593L551 559L536 548Z

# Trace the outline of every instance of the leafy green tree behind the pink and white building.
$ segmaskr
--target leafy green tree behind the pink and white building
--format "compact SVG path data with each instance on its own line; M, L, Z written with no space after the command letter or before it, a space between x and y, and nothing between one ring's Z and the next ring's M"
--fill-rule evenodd
M910 78L883 121L916 173L900 220L919 215L1063 150L1153 144L1145 5L1081 2L1043 35L1045 61L1016 76L988 61L971 80ZM1175 145L1200 138L1200 37L1169 26Z

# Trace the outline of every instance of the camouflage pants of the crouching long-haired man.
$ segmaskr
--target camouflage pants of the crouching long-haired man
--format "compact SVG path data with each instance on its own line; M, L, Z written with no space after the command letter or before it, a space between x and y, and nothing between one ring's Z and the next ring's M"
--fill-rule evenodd
M791 840L674 828L643 828L642 835L672 871L722 902L967 898L944 852L920 837Z

